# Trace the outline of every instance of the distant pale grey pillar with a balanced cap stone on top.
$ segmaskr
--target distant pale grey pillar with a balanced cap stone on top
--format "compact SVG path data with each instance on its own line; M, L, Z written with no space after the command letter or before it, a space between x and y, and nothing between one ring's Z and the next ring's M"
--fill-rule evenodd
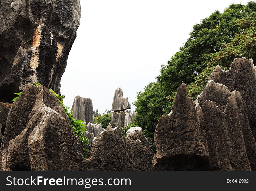
M112 103L112 115L109 124L117 124L124 127L131 122L131 116L127 109L131 109L131 104L128 98L124 98L121 88L115 90L113 103Z

